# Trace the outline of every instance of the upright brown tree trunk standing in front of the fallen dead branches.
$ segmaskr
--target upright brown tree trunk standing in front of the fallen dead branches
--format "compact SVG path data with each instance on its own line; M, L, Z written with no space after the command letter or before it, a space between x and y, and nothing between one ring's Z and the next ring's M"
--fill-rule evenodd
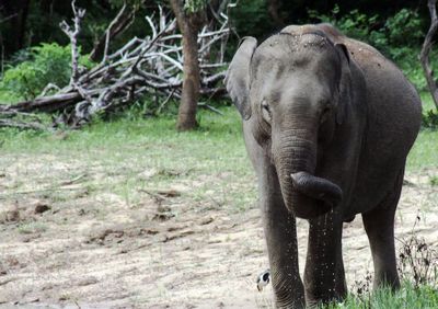
M198 31L205 22L205 12L186 13L183 1L170 1L183 34L184 78L176 129L189 130L197 127L196 107L200 87L197 38Z

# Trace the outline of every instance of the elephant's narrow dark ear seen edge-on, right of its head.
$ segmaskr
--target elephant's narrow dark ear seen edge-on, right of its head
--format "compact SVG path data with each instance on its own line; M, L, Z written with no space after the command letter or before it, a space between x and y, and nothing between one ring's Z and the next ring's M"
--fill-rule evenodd
M335 48L341 58L341 78L339 78L339 96L336 106L336 123L342 125L347 115L349 101L351 100L351 71L349 68L350 57L347 49L342 43L335 44Z

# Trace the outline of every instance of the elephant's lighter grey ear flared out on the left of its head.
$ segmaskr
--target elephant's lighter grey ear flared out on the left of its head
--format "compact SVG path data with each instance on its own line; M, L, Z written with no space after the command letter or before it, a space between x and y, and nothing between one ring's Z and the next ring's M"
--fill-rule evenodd
M250 104L250 62L257 46L257 39L252 36L242 38L239 49L231 60L227 71L226 85L232 102L238 107L243 119L251 117Z

